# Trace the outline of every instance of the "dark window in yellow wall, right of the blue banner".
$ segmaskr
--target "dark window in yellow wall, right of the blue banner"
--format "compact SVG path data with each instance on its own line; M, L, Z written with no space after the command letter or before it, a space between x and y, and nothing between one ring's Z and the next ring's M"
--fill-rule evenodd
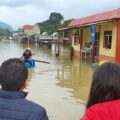
M112 46L112 31L104 31L104 48L111 49Z

